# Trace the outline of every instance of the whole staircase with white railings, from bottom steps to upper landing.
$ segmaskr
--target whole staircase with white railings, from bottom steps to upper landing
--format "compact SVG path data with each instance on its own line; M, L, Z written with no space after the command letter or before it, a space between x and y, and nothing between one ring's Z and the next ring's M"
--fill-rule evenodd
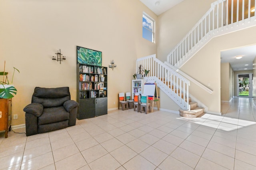
M208 107L189 94L190 81L204 89L209 94L213 91L197 80L179 70L194 54L216 36L228 34L256 25L256 0L218 0L211 4L210 9L199 20L188 34L168 54L167 61L156 59L156 55L137 59L139 65L150 70L149 81L155 81L157 86L177 105L180 115L195 118L208 111ZM197 102L191 102L192 99Z

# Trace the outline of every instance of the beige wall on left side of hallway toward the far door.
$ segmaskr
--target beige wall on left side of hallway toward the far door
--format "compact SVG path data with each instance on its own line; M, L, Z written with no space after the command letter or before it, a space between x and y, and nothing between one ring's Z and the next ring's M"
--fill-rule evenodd
M232 80L233 70L230 63L221 63L220 66L220 77L221 77L221 101L228 102L232 99Z

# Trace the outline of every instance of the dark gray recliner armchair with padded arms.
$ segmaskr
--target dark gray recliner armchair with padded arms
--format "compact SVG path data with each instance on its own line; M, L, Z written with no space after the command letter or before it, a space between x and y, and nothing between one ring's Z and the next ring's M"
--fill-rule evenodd
M23 111L26 136L76 125L78 103L70 100L69 87L36 87Z

